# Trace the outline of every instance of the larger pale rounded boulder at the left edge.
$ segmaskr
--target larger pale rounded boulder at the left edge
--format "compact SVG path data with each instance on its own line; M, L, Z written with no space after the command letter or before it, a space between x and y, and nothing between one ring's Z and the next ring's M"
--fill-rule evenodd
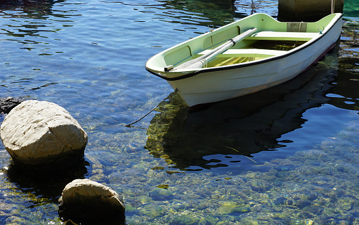
M66 109L36 100L14 107L1 124L0 136L15 163L34 169L77 163L88 142Z

